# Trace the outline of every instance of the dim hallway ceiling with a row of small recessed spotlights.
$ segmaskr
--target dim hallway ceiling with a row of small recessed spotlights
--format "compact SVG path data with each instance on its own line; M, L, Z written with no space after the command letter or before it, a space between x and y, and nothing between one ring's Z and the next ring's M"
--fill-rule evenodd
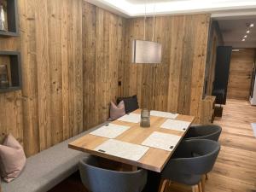
M248 24L253 23L253 27ZM256 16L247 19L218 20L218 26L224 39L224 45L233 48L256 48ZM247 34L247 30L250 33ZM247 35L245 41L241 39Z

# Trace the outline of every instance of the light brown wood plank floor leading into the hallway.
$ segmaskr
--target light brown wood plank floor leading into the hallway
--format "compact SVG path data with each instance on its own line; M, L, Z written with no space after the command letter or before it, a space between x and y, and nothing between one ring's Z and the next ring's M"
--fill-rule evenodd
M229 100L224 115L214 124L221 125L222 145L213 171L209 174L206 192L256 191L256 138L251 123L256 123L256 107L247 101ZM166 192L187 192L190 188L175 183Z

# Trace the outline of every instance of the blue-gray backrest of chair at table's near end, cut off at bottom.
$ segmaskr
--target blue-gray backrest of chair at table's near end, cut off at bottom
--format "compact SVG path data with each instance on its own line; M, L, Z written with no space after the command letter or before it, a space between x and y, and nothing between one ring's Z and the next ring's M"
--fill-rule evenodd
M96 157L79 161L84 186L91 192L141 192L147 183L147 171L117 172L102 169Z

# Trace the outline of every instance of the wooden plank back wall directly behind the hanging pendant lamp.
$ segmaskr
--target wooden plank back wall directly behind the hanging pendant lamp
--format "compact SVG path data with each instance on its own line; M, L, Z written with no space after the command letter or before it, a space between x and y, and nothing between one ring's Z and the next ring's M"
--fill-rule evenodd
M137 94L140 107L195 115L199 122L207 55L209 15L155 18L154 41L162 44L162 63L131 64L131 41L143 39L143 18L127 20L124 96ZM152 38L148 18L146 39Z

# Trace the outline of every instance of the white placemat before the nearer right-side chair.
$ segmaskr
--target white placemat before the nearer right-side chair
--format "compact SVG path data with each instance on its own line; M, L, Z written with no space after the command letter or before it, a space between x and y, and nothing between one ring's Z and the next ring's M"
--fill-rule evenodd
M176 135L154 131L142 144L151 148L172 151L180 139L181 137Z

